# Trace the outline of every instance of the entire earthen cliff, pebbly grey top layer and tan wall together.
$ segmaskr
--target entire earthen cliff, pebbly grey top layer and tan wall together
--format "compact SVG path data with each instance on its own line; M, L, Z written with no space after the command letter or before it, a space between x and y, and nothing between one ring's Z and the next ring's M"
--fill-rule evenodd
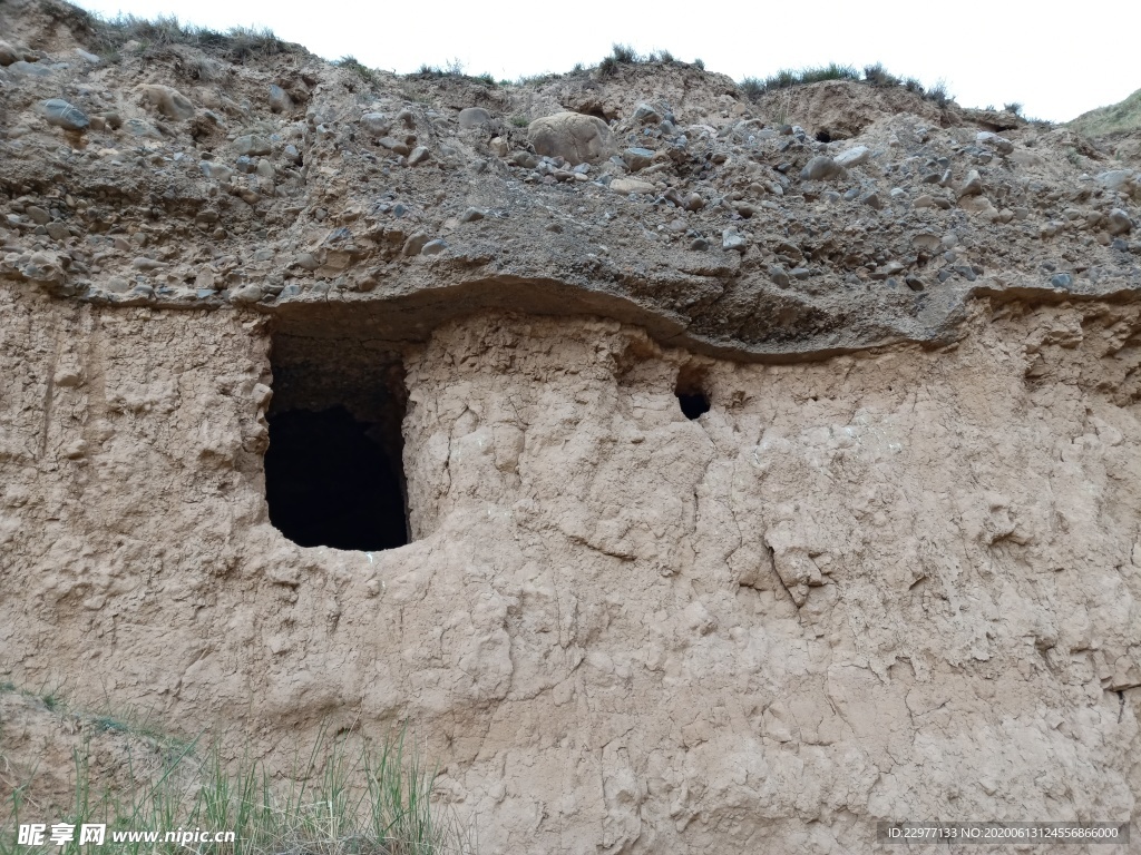
M270 763L412 722L485 853L1141 833L1127 147L0 16L3 679ZM406 546L270 524L267 416L334 402Z

